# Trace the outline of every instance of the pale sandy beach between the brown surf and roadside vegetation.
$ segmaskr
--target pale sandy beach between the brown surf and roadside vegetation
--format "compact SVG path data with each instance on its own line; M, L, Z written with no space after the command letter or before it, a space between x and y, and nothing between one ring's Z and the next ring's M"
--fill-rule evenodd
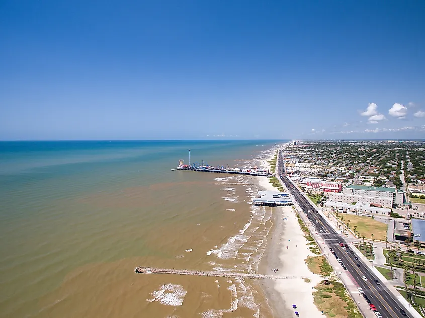
M276 190L267 178L258 179L261 187ZM282 313L285 313L285 316L293 316L293 312L298 311L302 317L323 317L314 305L312 295L315 291L314 286L323 278L310 272L304 261L308 256L315 254L308 249L307 240L298 224L296 211L291 206L275 207L273 222L260 264L261 270L264 273L272 273L272 269L277 268L279 271L273 273L275 275L303 276L310 279L310 282L299 278L262 283L274 316L278 314L281 316ZM296 310L292 308L293 304L297 305Z

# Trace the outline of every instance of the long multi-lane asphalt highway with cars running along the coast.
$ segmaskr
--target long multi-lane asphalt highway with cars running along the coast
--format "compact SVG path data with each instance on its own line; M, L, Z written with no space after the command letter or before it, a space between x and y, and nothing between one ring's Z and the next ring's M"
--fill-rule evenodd
M278 174L283 183L286 185L288 190L297 200L299 206L302 208L304 213L306 213L307 217L311 220L313 225L315 225L317 232L320 233L324 242L328 245L331 245L333 251L342 260L344 266L349 271L353 282L357 285L357 287L361 287L368 298L372 301L372 304L375 305L377 311L379 311L383 318L405 318L411 317L410 313L408 313L407 309L393 297L392 293L388 290L388 288L380 283L379 285L375 282L378 278L373 274L369 267L366 266L360 259L356 260L353 254L346 252L340 245L339 242L345 243L345 240L341 235L339 235L331 226L327 223L327 221L317 213L316 209L310 204L310 202L300 193L300 191L294 186L294 184L288 180L288 177L285 173L285 168L283 164L282 153L279 151L279 170ZM323 233L321 233L321 231ZM348 250L348 249L347 249ZM329 257L334 257L330 255ZM365 281L362 276L367 278ZM359 297L361 295L359 294ZM358 300L359 301L359 300ZM361 297L360 301L365 301L363 297ZM402 315L400 313L400 309L403 309L407 315Z

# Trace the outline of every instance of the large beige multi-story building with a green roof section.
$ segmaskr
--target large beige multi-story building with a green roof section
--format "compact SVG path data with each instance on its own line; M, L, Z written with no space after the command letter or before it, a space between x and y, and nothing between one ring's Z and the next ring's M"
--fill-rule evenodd
M375 203L391 208L395 204L403 205L405 196L404 192L394 188L352 184L344 187L342 193L329 193L328 200L349 204L354 202Z

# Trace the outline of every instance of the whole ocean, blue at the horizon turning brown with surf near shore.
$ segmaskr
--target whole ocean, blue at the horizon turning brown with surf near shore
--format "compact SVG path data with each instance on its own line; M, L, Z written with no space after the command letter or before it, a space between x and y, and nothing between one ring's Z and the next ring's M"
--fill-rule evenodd
M133 269L256 272L258 178L171 168L188 149L253 166L283 142L0 142L0 318L271 316L256 282Z

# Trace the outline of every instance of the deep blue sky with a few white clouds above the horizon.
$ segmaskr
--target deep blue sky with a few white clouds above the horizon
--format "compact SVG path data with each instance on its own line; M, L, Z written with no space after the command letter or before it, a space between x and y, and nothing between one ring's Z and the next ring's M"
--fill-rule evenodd
M424 34L421 0L4 0L0 139L425 138Z

